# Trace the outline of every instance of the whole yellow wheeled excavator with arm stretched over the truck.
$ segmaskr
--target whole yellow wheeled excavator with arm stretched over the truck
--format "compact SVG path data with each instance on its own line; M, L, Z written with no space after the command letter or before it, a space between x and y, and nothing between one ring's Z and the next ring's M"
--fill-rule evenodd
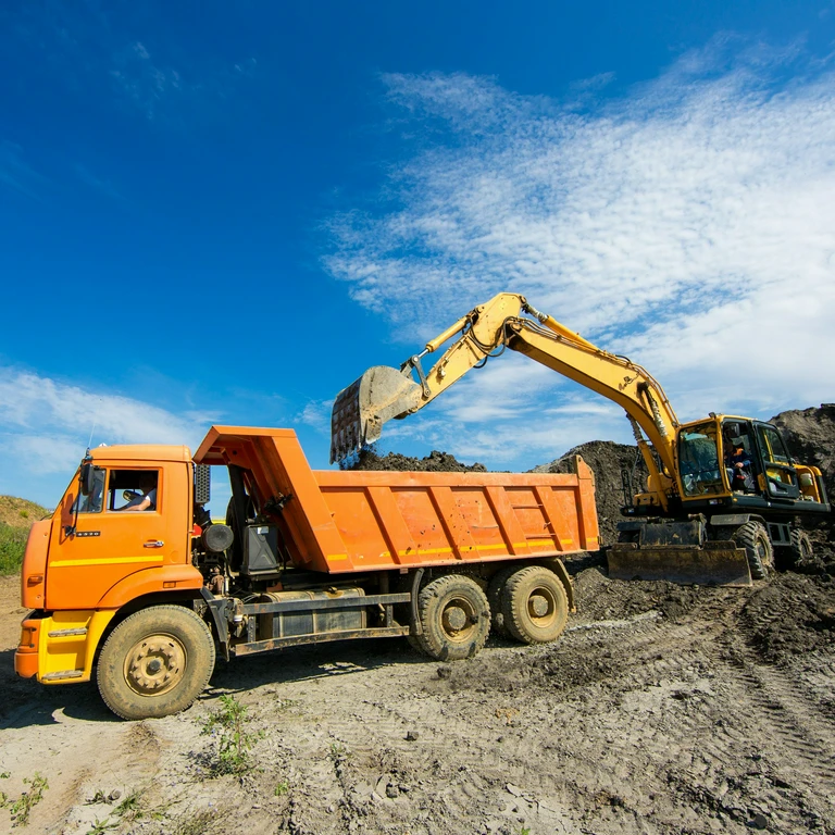
M452 337L424 371L423 358ZM645 369L512 292L470 311L399 369L374 366L340 391L332 413L332 463L344 464L381 437L384 423L423 409L506 348L626 411L649 476L634 495L625 479L619 541L607 551L610 576L750 585L773 570L775 552L786 561L811 556L799 520L831 511L826 489L818 468L792 459L775 426L713 412L681 424Z

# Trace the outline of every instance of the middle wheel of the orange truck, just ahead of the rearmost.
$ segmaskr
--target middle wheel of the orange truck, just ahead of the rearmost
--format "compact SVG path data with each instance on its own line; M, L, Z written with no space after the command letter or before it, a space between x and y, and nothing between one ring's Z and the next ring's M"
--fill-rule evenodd
M422 635L418 648L437 661L472 658L487 640L490 608L470 577L447 574L432 581L418 598Z

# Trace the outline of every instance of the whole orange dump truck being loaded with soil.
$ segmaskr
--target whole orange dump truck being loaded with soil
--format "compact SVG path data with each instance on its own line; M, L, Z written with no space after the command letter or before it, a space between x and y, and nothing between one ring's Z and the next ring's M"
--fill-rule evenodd
M313 471L291 429L214 426L186 447L88 452L22 573L14 663L87 682L125 719L175 713L215 652L408 636L439 660L490 627L554 640L574 608L560 556L597 550L591 471ZM226 524L205 511L212 466Z

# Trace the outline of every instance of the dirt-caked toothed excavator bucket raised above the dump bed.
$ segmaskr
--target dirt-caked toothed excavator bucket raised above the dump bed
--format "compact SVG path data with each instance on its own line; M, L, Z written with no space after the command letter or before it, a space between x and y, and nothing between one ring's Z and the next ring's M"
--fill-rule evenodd
M344 388L331 413L331 463L340 463L381 435L383 424L421 401L421 386L388 365L375 365Z

